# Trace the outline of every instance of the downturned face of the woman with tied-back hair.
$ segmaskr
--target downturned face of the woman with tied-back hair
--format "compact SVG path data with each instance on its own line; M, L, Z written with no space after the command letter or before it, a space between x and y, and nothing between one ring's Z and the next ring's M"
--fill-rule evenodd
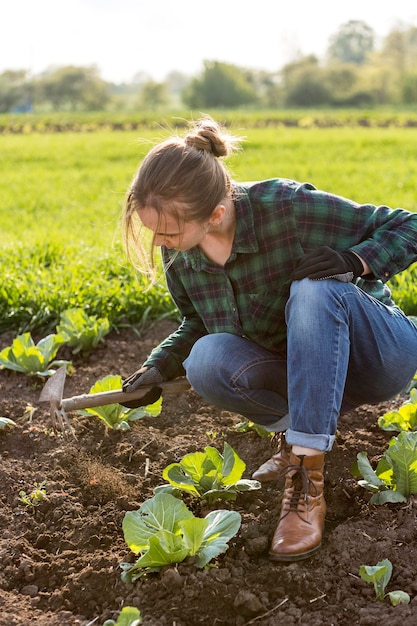
M138 216L143 226L152 231L155 246L181 252L198 246L210 227L210 221L184 222L170 213L160 215L153 208L139 209Z

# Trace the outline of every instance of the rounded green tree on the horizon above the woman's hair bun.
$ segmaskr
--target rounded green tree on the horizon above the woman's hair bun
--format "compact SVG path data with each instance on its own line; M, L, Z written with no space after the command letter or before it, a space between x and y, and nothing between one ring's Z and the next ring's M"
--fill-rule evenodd
M245 70L228 63L205 61L202 75L191 80L182 99L190 108L218 108L251 104L257 96Z

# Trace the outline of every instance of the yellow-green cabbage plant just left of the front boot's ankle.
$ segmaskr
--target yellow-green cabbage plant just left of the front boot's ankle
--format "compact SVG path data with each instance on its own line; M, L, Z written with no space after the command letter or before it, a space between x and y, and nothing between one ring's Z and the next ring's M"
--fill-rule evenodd
M155 493L177 495L184 491L209 505L217 499L236 500L239 492L261 488L257 480L242 479L245 469L246 464L228 443L224 444L223 456L207 446L204 452L192 452L179 463L168 465L162 476L169 484L160 485Z

